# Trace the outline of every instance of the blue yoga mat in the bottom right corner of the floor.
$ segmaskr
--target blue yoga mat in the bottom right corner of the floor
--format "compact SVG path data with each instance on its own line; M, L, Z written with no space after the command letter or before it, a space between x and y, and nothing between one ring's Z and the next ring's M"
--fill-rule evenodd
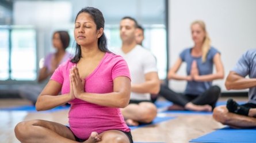
M241 143L256 142L256 128L254 129L231 129L224 127L205 136L198 137L189 142L205 142L205 143Z

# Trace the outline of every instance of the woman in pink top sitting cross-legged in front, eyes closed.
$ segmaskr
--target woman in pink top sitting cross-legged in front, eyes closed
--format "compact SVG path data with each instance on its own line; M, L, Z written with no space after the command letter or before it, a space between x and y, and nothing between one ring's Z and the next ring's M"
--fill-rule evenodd
M69 102L69 127L25 121L16 126L16 137L21 142L133 142L119 109L129 102L129 69L106 47L101 11L93 7L79 11L74 36L76 55L56 69L36 102L39 111Z

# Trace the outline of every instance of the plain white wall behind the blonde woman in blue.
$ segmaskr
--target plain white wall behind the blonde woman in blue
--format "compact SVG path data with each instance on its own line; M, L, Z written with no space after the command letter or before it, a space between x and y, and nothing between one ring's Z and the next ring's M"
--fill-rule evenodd
M240 55L247 49L256 48L255 7L255 0L170 0L170 65L174 64L184 48L193 46L190 24L194 20L203 20L212 46L221 52L226 78ZM185 75L185 64L178 73ZM227 91L224 80L217 80L213 84ZM186 82L170 81L170 87L175 91L182 92L185 86Z

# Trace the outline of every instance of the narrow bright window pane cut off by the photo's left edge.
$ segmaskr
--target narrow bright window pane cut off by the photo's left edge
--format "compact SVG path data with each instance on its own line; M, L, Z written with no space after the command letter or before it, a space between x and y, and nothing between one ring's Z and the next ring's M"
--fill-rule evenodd
M0 29L0 80L9 78L9 30Z

